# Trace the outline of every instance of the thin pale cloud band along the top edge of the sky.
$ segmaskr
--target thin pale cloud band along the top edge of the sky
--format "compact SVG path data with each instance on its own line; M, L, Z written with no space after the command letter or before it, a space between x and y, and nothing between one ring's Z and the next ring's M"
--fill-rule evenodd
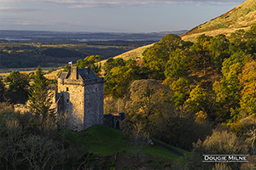
M241 0L0 0L0 3L48 3L69 8L155 6L165 4L228 5Z

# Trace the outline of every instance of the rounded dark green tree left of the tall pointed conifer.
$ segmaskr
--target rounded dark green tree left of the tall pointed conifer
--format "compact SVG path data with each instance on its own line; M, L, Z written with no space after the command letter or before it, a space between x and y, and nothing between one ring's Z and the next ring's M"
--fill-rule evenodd
M9 92L27 96L28 88L30 87L30 78L27 74L12 71L9 76L5 78L4 82L9 85Z

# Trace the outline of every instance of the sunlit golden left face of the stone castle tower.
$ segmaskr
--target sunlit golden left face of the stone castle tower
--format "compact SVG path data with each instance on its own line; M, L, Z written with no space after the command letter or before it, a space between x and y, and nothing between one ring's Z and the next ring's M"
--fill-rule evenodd
M63 94L63 111L68 112L67 127L84 130L84 86L64 80L58 83L58 92Z

